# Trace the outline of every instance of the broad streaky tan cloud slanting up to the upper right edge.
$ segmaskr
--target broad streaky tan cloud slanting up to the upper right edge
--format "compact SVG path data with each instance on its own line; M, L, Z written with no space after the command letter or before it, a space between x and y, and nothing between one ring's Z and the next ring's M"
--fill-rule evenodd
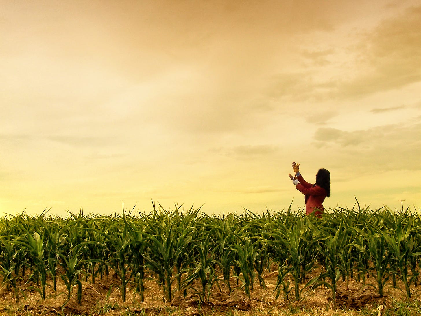
M338 37L332 41L320 33L311 33L314 40L307 38L302 42L302 47L307 48L298 49L301 58L296 61L302 65L296 64L295 71L285 71L269 81L268 90L275 91L271 96L296 102L326 102L370 96L421 82L420 16L421 6L413 6L378 22L376 27L360 26L352 35L342 34L338 22L336 29L323 33ZM308 48L312 46L315 48Z

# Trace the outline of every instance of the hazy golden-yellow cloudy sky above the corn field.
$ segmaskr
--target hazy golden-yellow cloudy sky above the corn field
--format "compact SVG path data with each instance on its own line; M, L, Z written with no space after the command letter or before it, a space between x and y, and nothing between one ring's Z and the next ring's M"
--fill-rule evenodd
M420 0L0 8L0 214L421 207Z

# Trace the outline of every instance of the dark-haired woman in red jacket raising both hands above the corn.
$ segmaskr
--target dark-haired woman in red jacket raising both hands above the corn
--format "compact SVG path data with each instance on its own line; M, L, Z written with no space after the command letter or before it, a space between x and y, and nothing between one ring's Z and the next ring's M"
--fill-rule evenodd
M292 163L295 177L288 174L295 188L303 193L306 201L306 214L321 217L323 214L323 201L330 196L330 172L322 168L316 174L316 184L312 185L304 180L300 174L300 165Z

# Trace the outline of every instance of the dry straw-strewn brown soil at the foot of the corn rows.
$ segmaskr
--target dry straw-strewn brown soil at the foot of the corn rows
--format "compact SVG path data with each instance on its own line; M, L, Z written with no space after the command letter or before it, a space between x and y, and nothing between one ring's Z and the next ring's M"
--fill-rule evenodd
M237 279L232 278L231 293L220 280L219 286L213 286L205 302L201 303L194 289L186 297L174 289L172 301L164 303L163 292L157 282L147 279L143 303L130 286L126 302L123 302L119 289L121 282L110 272L109 276L96 279L94 284L90 280L83 282L80 304L75 287L69 302L62 306L67 300L66 288L61 279L57 281L57 294L47 287L46 300L42 300L40 293L34 289L35 284L21 286L19 303L16 303L13 289L3 287L0 290L0 315L386 315L385 311L395 308L397 301L408 301L405 292L391 285L386 285L384 297L380 297L376 289L368 285L370 282L374 284L373 279L366 279L365 284L350 280L348 289L346 283L339 280L335 302L330 289L323 286L304 290L301 300L297 302L292 300L293 292L288 301L282 298L282 293L276 299L274 287L277 271L268 271L264 275L266 287L261 288L256 280L250 299L240 286L236 286ZM199 284L194 284L194 287L200 288ZM417 290L413 288L412 302L420 301Z

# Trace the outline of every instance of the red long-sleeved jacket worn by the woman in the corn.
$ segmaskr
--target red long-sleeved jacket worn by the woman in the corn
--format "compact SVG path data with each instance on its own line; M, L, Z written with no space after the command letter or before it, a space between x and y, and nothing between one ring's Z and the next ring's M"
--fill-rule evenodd
M306 182L301 174L297 179L300 183L295 188L305 195L306 214L308 215L314 212L315 216L320 217L323 213L323 201L326 198L326 190L318 185L312 185Z

